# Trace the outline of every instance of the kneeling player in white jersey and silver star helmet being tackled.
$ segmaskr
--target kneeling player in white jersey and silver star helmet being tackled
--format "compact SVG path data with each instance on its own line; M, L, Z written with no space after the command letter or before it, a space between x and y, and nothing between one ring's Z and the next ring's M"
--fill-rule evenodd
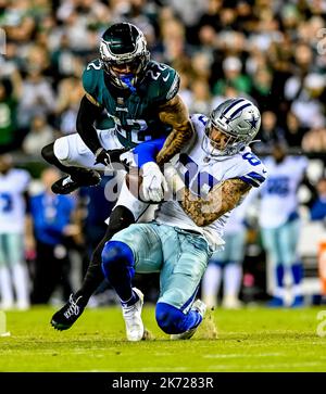
M205 312L196 294L212 253L224 244L229 212L266 177L248 147L261 123L252 102L227 100L210 118L193 115L191 122L197 140L164 170L177 199L161 203L154 221L117 232L102 252L102 270L121 298L129 341L145 333L143 295L131 285L135 271L160 271L159 327L172 339L193 335Z

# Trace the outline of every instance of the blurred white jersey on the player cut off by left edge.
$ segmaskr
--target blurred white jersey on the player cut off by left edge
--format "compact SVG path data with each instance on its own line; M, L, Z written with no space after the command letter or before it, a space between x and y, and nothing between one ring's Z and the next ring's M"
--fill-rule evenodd
M29 174L24 169L10 169L0 174L0 233L23 232L25 228L24 191Z

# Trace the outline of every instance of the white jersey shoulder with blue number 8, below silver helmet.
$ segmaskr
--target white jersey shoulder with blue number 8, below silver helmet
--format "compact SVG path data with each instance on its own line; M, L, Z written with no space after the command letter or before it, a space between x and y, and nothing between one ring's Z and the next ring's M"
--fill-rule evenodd
M249 147L237 153L235 170L238 178L254 188L259 188L268 176L266 166Z

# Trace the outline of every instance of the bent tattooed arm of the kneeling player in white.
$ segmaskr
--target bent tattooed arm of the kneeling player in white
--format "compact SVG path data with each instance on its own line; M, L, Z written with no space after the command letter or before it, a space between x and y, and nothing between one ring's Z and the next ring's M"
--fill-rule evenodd
M235 208L251 186L239 178L227 179L216 185L205 198L195 195L185 187L174 170L164 173L168 186L177 191L179 204L199 227L209 226L228 211Z

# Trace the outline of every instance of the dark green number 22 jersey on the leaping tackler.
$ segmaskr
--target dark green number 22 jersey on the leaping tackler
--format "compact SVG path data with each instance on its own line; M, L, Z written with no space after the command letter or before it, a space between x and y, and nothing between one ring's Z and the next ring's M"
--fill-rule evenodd
M150 61L136 92L120 97L118 90L108 84L97 59L84 71L83 85L85 91L106 110L109 127L115 127L124 147L130 149L171 131L171 126L159 117L160 105L173 99L179 89L179 76L168 65Z

